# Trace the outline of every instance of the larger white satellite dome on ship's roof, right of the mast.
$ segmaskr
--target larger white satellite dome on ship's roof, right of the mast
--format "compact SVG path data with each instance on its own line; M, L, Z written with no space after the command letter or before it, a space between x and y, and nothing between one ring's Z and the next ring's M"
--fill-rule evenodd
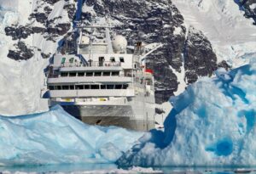
M125 53L127 47L127 40L125 36L117 35L113 37L113 51L115 53Z

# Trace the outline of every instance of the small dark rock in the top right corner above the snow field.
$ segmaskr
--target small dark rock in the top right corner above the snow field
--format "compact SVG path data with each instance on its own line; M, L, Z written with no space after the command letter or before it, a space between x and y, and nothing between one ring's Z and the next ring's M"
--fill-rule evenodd
M253 25L256 25L256 1L255 0L235 0L239 7L245 11L245 17L254 20Z

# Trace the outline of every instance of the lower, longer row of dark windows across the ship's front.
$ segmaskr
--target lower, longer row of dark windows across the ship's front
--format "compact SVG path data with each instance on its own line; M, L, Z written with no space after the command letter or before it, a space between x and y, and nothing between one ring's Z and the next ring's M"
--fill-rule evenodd
M62 85L62 86L49 86L49 90L84 90L84 89L127 89L128 84L116 84L116 85Z

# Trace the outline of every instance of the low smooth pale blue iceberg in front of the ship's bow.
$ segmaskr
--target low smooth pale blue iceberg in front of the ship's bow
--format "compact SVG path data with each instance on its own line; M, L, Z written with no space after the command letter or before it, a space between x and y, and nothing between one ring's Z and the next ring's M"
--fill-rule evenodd
M0 166L113 163L142 135L85 125L60 106L43 114L0 116Z

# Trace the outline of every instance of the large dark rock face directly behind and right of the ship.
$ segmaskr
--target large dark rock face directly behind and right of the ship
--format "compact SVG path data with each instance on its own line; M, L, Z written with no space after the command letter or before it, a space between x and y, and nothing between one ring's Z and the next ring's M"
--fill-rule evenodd
M82 19L88 24L95 16L111 18L114 31L126 36L130 45L138 41L139 31L144 33L143 42L164 43L163 48L148 56L148 68L154 70L158 104L177 91L180 81L195 82L198 76L212 76L217 69L217 58L207 37L192 28L186 36L183 16L171 1L87 0ZM178 79L183 65L185 76Z

